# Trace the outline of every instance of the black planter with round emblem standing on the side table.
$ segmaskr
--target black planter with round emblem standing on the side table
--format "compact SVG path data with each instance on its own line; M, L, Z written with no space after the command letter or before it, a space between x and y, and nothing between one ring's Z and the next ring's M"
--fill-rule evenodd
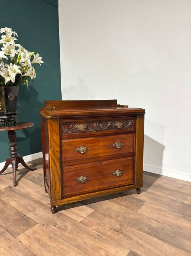
M5 127L10 126L10 122L16 125L18 93L19 86L0 86L0 124Z

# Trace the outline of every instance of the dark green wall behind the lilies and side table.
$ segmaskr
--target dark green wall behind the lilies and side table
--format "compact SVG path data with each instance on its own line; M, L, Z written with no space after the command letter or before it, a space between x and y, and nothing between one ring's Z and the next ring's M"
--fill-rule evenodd
M42 54L44 64L34 64L36 79L21 86L18 121L34 126L16 131L20 156L42 151L39 109L44 100L61 100L58 0L1 0L0 28L10 27L28 51ZM7 132L0 132L0 162L9 157Z

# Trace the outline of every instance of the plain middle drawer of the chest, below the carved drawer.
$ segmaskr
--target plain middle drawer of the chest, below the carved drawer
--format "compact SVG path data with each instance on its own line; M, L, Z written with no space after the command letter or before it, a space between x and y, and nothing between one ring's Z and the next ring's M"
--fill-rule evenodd
M62 163L134 152L134 134L61 140Z

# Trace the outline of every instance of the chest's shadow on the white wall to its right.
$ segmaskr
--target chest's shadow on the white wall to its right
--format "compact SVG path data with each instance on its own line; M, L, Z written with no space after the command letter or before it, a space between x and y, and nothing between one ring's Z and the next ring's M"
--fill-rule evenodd
M144 135L144 171L162 174L164 145Z

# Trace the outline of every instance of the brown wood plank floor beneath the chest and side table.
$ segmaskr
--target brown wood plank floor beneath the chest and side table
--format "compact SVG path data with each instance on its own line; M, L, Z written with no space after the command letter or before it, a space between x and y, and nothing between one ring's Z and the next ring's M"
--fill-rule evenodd
M0 255L191 255L190 183L144 172L136 190L59 206L52 214L42 159L0 175Z

